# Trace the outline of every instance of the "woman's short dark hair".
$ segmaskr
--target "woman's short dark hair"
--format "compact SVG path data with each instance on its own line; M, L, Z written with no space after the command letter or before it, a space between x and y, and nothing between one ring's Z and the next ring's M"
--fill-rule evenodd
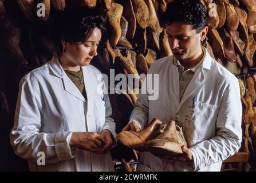
M62 50L61 39L70 43L85 42L97 27L101 30L101 45L107 40L106 15L96 9L65 9L54 18L53 37L57 53Z

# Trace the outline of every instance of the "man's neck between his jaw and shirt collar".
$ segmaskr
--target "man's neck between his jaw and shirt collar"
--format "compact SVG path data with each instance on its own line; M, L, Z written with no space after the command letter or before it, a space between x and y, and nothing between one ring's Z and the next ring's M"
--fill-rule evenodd
M188 70L193 68L194 66L198 65L200 61L203 59L203 50L200 49L200 52L196 54L194 57L187 58L187 59L179 59L180 65L184 67L184 70Z

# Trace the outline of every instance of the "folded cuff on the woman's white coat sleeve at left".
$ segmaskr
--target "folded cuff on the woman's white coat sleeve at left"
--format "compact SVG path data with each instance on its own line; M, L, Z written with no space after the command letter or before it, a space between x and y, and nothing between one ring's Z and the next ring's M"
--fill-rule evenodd
M55 150L57 157L60 160L67 160L74 158L76 148L71 148L69 145L72 132L58 132L55 136Z

